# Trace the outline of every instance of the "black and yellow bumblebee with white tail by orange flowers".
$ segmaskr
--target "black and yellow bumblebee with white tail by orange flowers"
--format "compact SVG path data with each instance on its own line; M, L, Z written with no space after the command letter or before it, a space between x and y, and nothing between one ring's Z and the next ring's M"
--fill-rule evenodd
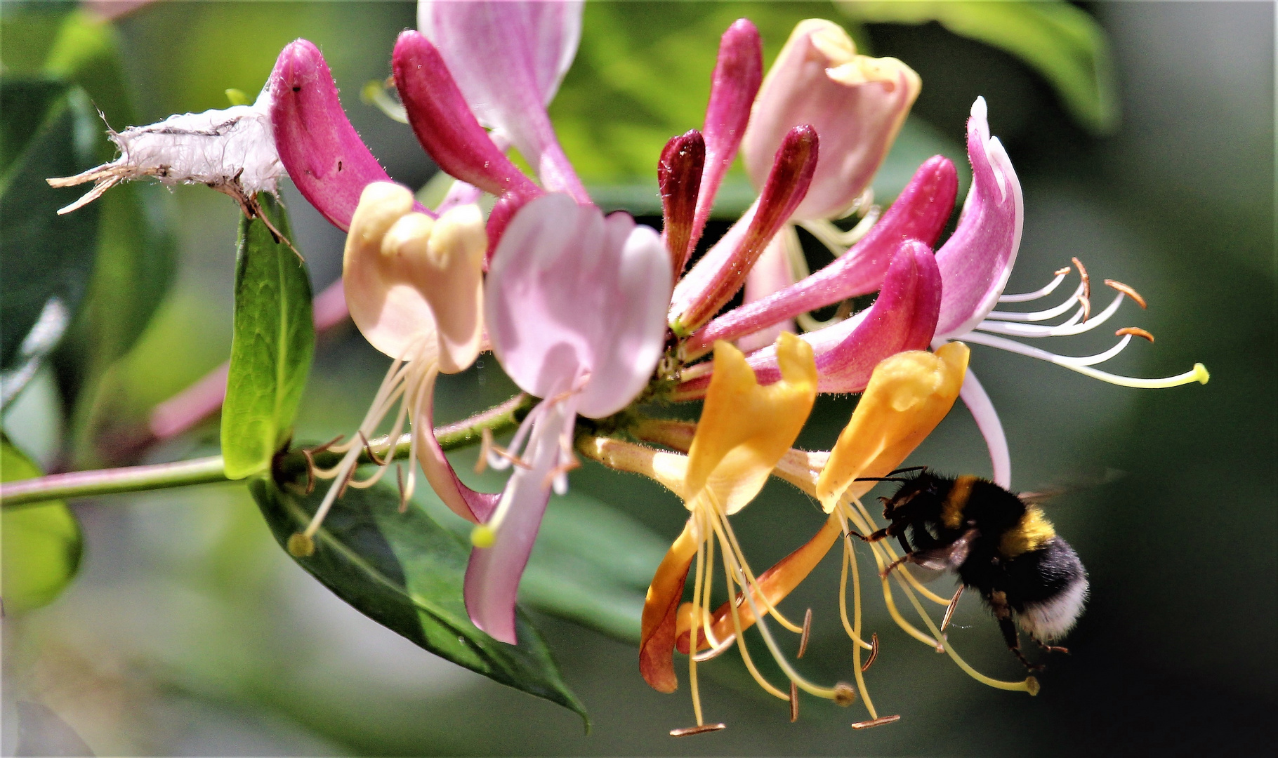
M916 472L912 476L909 472ZM955 571L964 587L980 592L998 620L1007 647L1030 671L1016 625L1048 652L1068 652L1052 642L1065 637L1082 612L1088 574L1070 545L1056 534L1043 510L1026 497L973 476L944 477L925 467L902 469L882 481L901 482L881 497L888 525L863 537L896 537L905 555L884 571L910 562ZM946 612L946 621L958 594ZM943 626L942 626L943 628Z

